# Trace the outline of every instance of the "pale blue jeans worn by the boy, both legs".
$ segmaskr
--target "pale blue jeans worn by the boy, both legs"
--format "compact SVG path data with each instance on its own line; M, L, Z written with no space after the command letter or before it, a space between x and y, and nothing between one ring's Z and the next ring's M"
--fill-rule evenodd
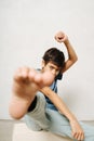
M37 105L33 111L25 115L26 125L35 130L46 130L65 138L77 141L71 136L69 120L56 110L49 108L44 95L41 92L37 94ZM85 134L84 141L94 141L94 127L79 121Z

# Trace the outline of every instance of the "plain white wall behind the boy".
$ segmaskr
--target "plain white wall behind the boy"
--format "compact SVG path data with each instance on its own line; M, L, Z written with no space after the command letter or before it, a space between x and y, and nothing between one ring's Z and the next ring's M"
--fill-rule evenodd
M64 30L79 61L59 81L59 94L79 119L94 120L94 1L0 0L0 119L9 119L12 77L18 66L40 67L43 52ZM66 50L65 50L66 54Z

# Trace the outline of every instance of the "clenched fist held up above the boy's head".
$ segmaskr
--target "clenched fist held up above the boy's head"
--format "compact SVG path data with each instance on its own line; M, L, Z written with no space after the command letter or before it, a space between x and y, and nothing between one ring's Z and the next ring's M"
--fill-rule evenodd
M66 42L68 40L67 35L65 35L63 31L58 31L54 38L59 43Z

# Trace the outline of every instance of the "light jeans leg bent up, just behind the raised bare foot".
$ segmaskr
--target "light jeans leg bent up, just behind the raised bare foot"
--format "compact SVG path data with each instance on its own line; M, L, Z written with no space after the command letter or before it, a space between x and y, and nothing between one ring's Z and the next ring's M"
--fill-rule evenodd
M27 127L36 131L41 129L46 130L50 127L50 121L45 115L45 104L44 95L41 92L38 92L36 107L25 115Z

